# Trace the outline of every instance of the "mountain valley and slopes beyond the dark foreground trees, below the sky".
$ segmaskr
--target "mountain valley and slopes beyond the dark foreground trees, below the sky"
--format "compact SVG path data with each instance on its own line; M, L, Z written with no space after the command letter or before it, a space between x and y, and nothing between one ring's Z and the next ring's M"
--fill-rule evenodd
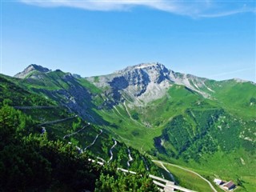
M160 63L90 78L31 65L0 78L1 106L34 121L26 136L44 127L49 140L70 142L92 159L158 177L170 172L167 179L190 190L216 191L216 175L239 184L236 191L256 190L254 82L217 82ZM209 185L193 186L191 173L173 164Z

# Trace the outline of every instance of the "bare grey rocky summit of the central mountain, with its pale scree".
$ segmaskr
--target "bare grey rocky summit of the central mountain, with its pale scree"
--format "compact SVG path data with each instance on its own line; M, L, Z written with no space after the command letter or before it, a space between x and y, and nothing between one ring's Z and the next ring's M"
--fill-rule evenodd
M203 91L203 88L208 88L204 84L204 78L175 73L160 63L128 66L114 74L86 78L86 80L101 89L107 87L110 90L107 94L114 98L112 102L123 102L127 98L137 106L162 98L166 90L174 84L186 86L204 97L209 97L209 94Z

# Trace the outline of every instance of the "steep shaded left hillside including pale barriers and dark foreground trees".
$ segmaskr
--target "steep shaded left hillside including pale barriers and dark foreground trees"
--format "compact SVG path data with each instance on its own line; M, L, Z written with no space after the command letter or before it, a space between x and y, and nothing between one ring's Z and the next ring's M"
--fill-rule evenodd
M0 80L0 191L158 191L148 174L160 171L138 150L46 95L24 90L18 79ZM143 177L125 177L120 167Z

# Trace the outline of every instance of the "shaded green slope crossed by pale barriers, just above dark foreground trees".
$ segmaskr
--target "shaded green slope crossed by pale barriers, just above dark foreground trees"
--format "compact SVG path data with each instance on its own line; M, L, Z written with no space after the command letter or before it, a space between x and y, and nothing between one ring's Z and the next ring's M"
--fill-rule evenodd
M52 73L52 72L51 72ZM58 71L58 73L60 73ZM63 142L72 142L72 145L80 147L82 150L89 146L96 135L101 132L102 127L93 123L88 125L87 121L79 118L78 115L70 112L65 106L60 105L52 98L45 97L43 93L38 94L37 91L30 91L31 87L38 88L37 85L30 85L30 88L24 90L19 86L24 80L0 76L0 106L7 103L9 106L35 106L31 109L21 109L22 114L29 116L36 124L30 130L27 130L27 134L42 134L42 127L46 130L47 136L50 140L61 140ZM29 81L29 79L27 79ZM58 80L60 82L60 80ZM86 80L80 80L80 82L86 84ZM78 82L76 82L78 83ZM26 84L25 84L26 85ZM24 84L23 84L24 86ZM94 86L90 86L95 88ZM58 87L60 88L60 87ZM42 87L40 88L42 89ZM39 89L38 89L39 90ZM94 104L91 104L92 106ZM51 106L52 108L37 108L37 106ZM42 126L40 124L45 122L52 122L55 120L62 120L61 122L46 123ZM84 129L82 129L85 127ZM82 130L81 130L82 129ZM77 134L75 132L79 131ZM66 135L69 135L63 138ZM103 158L106 162L110 159L110 148L114 145L114 139L118 139L115 135L111 135L108 130L103 130L102 134L98 136L98 139L93 146L90 146L86 152L92 155L95 159ZM146 165L142 159L144 157L138 152L138 150L130 149L134 158L133 162L130 162L130 167L127 167L128 161L128 146L124 143L118 142L118 145L114 148L114 164L125 169L131 169L134 171L146 170ZM146 157L144 157L146 158ZM102 161L102 160L100 160ZM158 170L153 163L146 158L149 171L151 173L158 174ZM156 170L156 171L155 171Z

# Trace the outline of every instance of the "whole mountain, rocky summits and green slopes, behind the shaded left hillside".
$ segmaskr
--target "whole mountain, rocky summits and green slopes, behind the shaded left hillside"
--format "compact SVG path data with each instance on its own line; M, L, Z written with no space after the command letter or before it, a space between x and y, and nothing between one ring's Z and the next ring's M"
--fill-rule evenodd
M244 190L255 189L254 82L199 78L160 63L90 78L42 66L28 68L12 81L140 153L210 178L217 174L243 181Z

